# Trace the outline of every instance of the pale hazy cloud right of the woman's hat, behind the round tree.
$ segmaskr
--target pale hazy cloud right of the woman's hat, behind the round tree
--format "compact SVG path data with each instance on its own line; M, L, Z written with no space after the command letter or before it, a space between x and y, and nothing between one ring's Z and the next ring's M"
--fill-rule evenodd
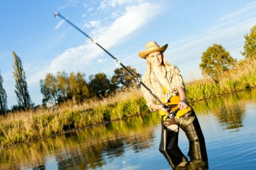
M199 62L201 62L201 54L212 44L222 44L224 48L230 52L233 58L241 59L241 51L243 51L243 36L255 26L256 17L247 19L244 22L238 22L230 26L220 24L207 30L201 30L199 34L187 36L182 40L172 42L166 50L166 56L174 65L178 65L182 70L183 77L187 81L191 79L201 78ZM193 73L193 75L191 75Z

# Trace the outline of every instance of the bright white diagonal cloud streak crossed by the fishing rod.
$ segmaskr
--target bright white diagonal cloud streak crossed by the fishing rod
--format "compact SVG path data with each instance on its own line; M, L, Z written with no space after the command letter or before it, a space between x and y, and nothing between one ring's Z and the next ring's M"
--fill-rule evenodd
M108 28L100 28L98 32L97 42L104 48L110 48L115 44L125 40L132 32L150 22L160 11L160 5L154 3L142 3L140 5L128 6L125 9L125 14L117 18ZM91 23L92 24L92 23ZM102 31L102 29L104 31ZM57 58L52 60L48 72L56 73L57 71L65 70L77 71L86 69L86 65L90 60L96 58L103 51L96 45L92 46L91 42L87 44L69 48L60 54Z

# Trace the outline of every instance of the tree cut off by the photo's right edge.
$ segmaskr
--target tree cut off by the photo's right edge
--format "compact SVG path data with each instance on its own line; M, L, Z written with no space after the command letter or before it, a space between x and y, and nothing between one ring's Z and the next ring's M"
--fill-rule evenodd
M256 58L256 26L251 28L250 34L245 35L245 52L242 52L245 58Z

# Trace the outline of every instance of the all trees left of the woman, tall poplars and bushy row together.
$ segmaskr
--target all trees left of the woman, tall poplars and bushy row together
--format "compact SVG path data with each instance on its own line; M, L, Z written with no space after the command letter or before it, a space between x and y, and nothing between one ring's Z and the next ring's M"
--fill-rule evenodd
M15 95L17 105L12 105L11 110L7 108L7 94L3 88L3 77L0 72L0 114L17 110L28 110L37 108L30 98L25 71L22 67L22 60L13 52L13 79L15 80ZM127 68L137 77L141 74L136 69ZM107 77L104 73L90 75L86 81L83 73L58 72L57 75L47 73L44 79L40 80L40 91L43 95L42 105L56 105L72 100L73 103L82 103L85 99L102 99L108 95L121 91L127 87L136 87L135 79L123 68L115 69L113 77Z

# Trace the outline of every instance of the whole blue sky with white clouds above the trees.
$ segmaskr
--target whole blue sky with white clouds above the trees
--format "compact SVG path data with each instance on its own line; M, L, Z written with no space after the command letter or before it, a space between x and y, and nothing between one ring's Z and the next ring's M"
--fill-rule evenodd
M32 101L42 103L40 79L56 75L105 73L112 77L115 61L75 30L55 11L94 38L124 65L145 73L137 56L147 42L168 44L166 58L185 81L201 79L201 55L221 44L233 58L243 59L245 34L256 25L255 0L63 0L1 1L0 71L10 109L17 105L12 60L22 60Z

